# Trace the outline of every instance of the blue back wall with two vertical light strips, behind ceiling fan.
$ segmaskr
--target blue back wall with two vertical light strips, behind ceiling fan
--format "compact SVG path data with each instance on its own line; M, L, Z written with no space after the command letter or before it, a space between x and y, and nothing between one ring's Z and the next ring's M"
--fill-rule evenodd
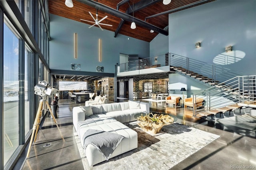
M115 73L120 53L149 57L149 42L130 38L94 26L50 14L50 69L70 70L70 64L81 64L81 71ZM74 33L78 35L78 57L74 58ZM98 59L98 40L102 39L102 62ZM129 40L128 40L129 38Z

